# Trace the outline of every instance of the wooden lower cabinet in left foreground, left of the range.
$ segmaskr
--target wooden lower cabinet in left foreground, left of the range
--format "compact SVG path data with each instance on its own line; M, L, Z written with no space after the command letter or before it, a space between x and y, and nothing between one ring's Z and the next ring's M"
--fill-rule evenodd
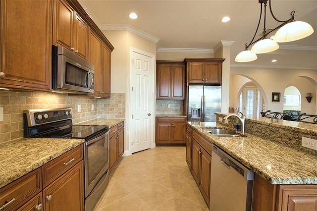
M8 211L84 211L83 145L2 187L3 205Z

